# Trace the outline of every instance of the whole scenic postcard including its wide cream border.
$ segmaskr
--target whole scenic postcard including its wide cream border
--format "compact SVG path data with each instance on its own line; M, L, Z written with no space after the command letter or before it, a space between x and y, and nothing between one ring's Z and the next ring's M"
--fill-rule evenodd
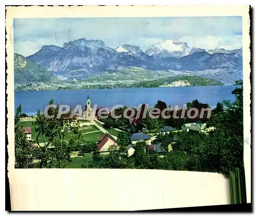
M6 10L12 210L251 202L249 6Z

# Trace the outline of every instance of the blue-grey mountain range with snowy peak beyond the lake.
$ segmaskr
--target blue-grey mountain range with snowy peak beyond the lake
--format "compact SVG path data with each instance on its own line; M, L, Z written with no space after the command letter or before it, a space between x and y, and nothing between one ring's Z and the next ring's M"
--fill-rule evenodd
M26 58L14 56L15 83L84 81L101 74L111 77L120 71L125 71L125 76L131 67L139 68L141 74L151 71L156 77L161 73L164 76L199 76L232 84L242 79L242 48L206 51L182 41L163 40L143 52L135 45L122 44L113 49L102 40L81 38L64 43L62 47L42 46Z

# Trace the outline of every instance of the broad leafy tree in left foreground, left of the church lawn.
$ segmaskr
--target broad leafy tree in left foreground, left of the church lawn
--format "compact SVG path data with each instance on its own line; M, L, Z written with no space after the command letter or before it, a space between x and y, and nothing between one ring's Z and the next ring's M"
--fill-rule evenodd
M49 105L52 104L53 100ZM81 140L81 133L76 121L66 119L62 115L60 118L57 117L58 107L49 108L48 114L53 115L53 118L47 118L38 110L36 121L33 123L38 133L36 137L38 148L35 149L35 157L39 168L63 168L67 162L71 161L70 153L73 151L73 145ZM65 139L68 132L74 133L70 141ZM39 142L39 136L42 137L42 143Z

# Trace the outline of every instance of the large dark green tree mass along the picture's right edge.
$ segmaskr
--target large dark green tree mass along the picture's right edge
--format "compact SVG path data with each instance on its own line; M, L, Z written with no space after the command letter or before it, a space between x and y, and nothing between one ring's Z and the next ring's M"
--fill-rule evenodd
M205 145L204 163L210 172L229 173L243 167L243 82L236 81L236 101L224 101L226 108L210 118L215 128ZM214 164L211 161L215 161Z

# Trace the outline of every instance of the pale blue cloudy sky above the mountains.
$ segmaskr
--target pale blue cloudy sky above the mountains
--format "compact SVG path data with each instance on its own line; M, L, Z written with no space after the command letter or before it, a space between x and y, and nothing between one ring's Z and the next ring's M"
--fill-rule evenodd
M102 40L114 49L131 44L145 51L162 40L181 40L205 50L232 50L242 47L242 17L14 19L14 52L25 57L43 45L62 47L79 38Z

